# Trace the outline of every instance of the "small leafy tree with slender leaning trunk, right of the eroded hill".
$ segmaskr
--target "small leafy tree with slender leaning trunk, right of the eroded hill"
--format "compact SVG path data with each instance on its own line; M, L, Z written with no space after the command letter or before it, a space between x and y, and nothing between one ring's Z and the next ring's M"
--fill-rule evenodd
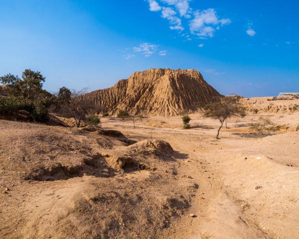
M216 135L217 139L219 139L220 129L226 119L233 116L241 118L246 116L245 108L239 103L239 99L239 96L221 97L204 107L204 117L220 121L220 127Z

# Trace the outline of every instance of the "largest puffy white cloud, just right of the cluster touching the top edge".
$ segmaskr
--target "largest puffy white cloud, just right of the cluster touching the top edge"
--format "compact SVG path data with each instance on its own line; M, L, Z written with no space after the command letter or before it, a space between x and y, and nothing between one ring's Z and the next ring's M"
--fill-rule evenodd
M189 22L191 33L199 37L213 37L216 29L220 29L220 25L231 23L229 18L219 19L213 8L202 11L195 11L194 18ZM214 28L216 27L216 29Z

